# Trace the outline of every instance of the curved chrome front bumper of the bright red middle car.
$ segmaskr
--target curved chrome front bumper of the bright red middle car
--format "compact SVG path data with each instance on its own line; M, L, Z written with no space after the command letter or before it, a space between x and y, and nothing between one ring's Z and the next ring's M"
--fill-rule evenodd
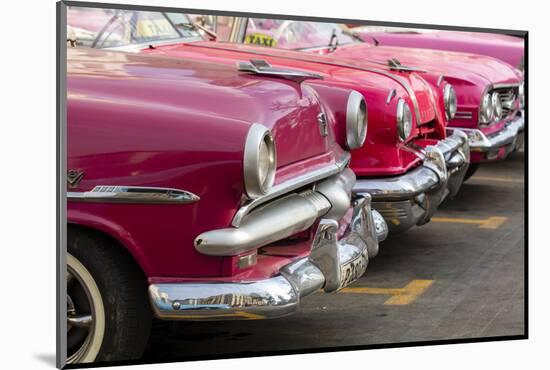
M448 179L441 149L428 146L419 168L397 177L359 179L353 192L371 194L373 208L384 217L389 231L396 233L430 220L449 193Z

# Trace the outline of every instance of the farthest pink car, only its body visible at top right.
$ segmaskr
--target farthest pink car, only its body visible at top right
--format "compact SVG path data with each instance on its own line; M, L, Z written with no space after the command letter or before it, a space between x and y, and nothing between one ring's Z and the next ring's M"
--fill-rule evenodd
M374 45L402 46L486 55L523 71L525 51L523 39L517 36L465 31L407 29L398 27L357 26L353 32Z

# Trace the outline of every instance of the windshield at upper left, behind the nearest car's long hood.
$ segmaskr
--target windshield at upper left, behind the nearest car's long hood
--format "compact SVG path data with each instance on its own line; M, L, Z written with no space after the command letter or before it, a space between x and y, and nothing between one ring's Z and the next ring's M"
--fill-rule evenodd
M71 7L67 14L68 38L77 45L119 48L185 39L202 39L185 14Z

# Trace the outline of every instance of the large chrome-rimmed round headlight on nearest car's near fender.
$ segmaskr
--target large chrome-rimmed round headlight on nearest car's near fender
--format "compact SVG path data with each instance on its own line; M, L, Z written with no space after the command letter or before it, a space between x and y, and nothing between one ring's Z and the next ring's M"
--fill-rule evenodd
M277 156L271 131L258 123L248 131L244 146L244 187L250 198L269 191L275 179Z

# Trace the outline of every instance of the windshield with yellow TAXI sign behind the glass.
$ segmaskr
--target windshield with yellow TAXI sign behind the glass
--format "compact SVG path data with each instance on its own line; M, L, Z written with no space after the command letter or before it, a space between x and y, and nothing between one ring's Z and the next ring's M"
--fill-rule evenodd
M359 41L336 23L250 18L244 42L283 49L309 49Z

